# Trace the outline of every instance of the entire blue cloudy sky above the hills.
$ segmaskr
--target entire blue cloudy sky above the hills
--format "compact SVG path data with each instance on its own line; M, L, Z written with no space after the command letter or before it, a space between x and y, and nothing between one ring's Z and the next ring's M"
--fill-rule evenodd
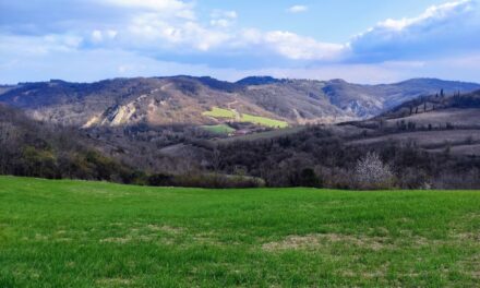
M0 83L480 82L479 0L0 0Z

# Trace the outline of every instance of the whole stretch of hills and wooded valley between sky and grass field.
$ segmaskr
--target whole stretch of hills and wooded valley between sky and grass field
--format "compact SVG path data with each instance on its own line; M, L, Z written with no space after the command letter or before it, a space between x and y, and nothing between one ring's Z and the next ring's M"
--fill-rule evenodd
M11 148L0 161L20 176L358 189L356 165L375 153L391 167L388 187L472 189L480 187L480 101L469 89L478 86L190 76L19 84L0 95L5 113L15 115L2 119L2 134L29 128L2 140ZM41 130L74 133L65 140Z

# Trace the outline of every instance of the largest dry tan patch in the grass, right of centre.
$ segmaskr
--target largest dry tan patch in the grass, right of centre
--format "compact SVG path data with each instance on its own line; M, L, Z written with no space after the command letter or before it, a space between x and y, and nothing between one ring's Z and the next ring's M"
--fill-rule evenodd
M340 233L288 236L281 241L268 242L262 245L266 251L279 250L315 250L334 243L345 243L373 251L380 251L391 247L385 237L349 236Z

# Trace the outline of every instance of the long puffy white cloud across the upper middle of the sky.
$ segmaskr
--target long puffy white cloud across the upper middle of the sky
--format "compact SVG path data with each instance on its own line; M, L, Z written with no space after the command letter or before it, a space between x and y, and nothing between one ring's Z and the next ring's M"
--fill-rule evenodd
M121 4L135 4L130 0L106 0ZM242 53L254 52L265 58L283 58L288 60L331 61L337 59L346 46L316 41L291 32L263 32L255 28L239 29L235 27L238 14L236 11L213 10L208 25L196 20L182 17L165 17L158 9L166 9L168 3L175 9L184 9L177 0L159 1L161 5L155 10L148 2L142 5L149 11L135 13L123 29L119 29L115 38L118 46L139 49L149 53L173 51L173 53L208 52ZM194 15L193 15L194 16ZM93 41L98 44L106 38L105 33L94 31ZM213 56L216 57L216 56ZM248 55L245 55L248 57Z

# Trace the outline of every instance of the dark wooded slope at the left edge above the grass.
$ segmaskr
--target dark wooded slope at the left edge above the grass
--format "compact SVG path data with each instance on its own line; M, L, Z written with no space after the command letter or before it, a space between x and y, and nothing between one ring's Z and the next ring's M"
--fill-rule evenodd
M76 129L34 121L0 105L0 175L129 182L133 170Z

